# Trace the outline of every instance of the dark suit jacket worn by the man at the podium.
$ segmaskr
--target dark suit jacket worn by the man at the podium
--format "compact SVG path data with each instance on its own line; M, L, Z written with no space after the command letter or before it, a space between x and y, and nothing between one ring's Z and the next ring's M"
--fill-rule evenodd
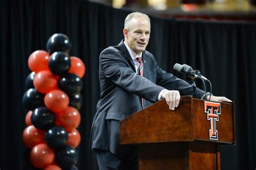
M144 51L143 77L136 73L124 40L118 46L105 49L99 56L100 100L91 128L90 148L124 155L134 146L119 145L119 121L157 101L161 90L178 90L181 95L192 95L186 81L160 69L154 56ZM204 91L197 89L198 97Z

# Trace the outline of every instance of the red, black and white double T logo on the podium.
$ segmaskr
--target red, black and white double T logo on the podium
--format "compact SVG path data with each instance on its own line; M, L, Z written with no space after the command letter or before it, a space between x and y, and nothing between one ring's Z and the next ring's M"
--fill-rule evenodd
M210 120L211 128L209 130L209 138L218 140L218 130L216 130L216 121L219 121L220 103L205 101L205 113L207 120Z

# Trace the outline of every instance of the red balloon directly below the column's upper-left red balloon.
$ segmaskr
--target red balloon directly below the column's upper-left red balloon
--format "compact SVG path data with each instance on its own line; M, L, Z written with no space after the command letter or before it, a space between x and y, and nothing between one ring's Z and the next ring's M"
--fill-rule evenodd
M48 93L58 87L58 80L50 71L40 71L36 74L33 84L41 93Z

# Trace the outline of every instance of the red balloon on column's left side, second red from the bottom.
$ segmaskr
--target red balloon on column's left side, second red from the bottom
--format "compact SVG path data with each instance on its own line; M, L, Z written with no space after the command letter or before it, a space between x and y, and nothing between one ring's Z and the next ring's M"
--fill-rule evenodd
M25 128L22 134L22 140L26 147L32 148L37 144L45 143L44 134L37 130L33 125Z

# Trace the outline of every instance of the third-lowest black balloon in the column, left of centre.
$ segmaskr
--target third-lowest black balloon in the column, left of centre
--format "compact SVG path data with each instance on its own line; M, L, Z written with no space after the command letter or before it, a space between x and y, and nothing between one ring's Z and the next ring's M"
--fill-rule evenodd
M55 115L46 107L37 107L31 114L31 123L39 130L55 125Z

